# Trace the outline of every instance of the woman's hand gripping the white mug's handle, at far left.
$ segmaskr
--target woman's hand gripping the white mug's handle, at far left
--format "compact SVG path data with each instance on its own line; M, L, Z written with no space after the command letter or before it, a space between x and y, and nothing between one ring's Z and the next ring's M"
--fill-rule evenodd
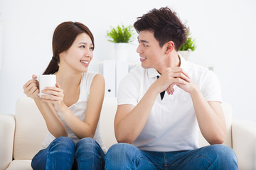
M39 84L36 78L37 76L33 74L32 79L28 80L23 86L24 94L33 99L39 99Z

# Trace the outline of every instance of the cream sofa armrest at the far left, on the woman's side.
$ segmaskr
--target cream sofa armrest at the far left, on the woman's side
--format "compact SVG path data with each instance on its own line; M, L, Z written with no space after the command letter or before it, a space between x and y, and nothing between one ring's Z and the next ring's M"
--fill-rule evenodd
M13 159L14 115L0 114L0 169L6 169Z

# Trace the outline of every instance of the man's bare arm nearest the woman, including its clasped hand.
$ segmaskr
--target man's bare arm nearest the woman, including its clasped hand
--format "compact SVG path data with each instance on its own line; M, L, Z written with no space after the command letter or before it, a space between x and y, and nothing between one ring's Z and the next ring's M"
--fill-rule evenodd
M189 81L190 79L187 74L180 67L167 69L154 84L151 84L137 106L130 104L118 106L114 119L114 132L117 142L134 142L149 118L149 113L156 100L156 96L161 91L166 90L170 84L179 83L186 85Z

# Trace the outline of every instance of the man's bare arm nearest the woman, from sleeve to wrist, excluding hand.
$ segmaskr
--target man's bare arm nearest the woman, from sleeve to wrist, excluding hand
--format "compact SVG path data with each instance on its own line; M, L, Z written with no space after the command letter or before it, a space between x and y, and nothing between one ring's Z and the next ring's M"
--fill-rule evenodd
M142 132L149 113L159 93L150 87L137 106L120 105L114 118L114 133L117 142L132 143Z

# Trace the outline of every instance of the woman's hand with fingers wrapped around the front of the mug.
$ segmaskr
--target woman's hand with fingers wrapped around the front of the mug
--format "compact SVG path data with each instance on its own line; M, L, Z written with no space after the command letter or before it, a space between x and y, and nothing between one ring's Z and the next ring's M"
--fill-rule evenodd
M41 90L43 94L49 95L41 95L41 99L47 103L53 103L56 109L60 108L63 103L64 92L63 89L60 89L60 85L56 83L55 87L46 87Z

